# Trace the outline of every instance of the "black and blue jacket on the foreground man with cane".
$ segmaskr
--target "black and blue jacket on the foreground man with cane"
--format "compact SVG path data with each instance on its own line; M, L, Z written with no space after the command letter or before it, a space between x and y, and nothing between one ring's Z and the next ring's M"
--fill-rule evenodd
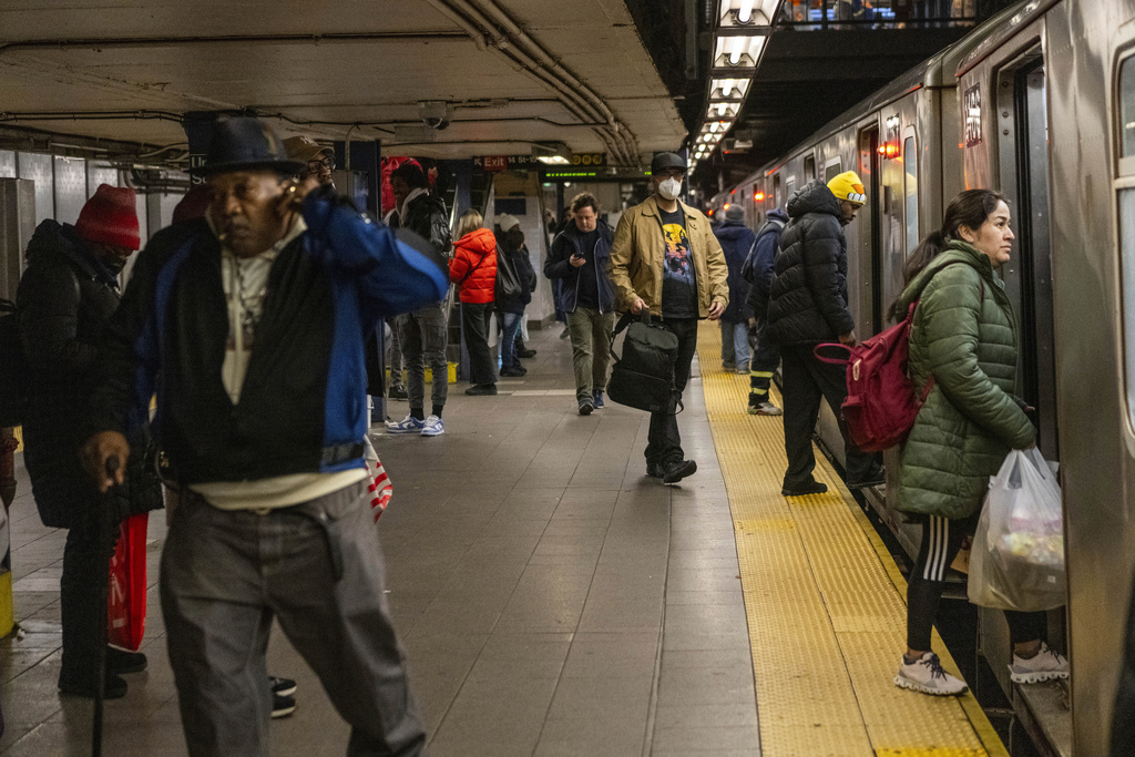
M157 393L154 437L179 483L365 465L363 338L442 300L448 277L424 241L396 239L334 194L312 193L302 213L308 230L272 263L235 405L221 381L220 243L204 220L154 235L108 325L90 431L126 434Z

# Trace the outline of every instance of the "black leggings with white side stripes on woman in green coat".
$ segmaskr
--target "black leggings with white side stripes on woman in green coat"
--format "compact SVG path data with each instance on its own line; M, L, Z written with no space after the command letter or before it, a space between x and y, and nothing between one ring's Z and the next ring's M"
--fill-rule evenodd
M977 528L981 511L969 518L950 520L928 515L923 523L923 542L907 583L907 646L924 651L930 649L931 626L942 599L945 569L958 556L961 542ZM1009 637L1014 644L1040 639L1044 629L1044 613L1004 611L1009 622Z

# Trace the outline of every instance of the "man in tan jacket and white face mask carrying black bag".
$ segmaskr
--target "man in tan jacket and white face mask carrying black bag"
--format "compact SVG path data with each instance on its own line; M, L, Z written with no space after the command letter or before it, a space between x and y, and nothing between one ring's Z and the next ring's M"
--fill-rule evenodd
M698 319L717 320L729 304L729 268L709 219L678 200L684 176L681 157L655 155L650 162L654 195L619 219L608 270L616 310L636 314L649 310L678 337L674 387L679 397L690 377ZM674 406L651 413L647 474L676 483L698 470L684 456Z

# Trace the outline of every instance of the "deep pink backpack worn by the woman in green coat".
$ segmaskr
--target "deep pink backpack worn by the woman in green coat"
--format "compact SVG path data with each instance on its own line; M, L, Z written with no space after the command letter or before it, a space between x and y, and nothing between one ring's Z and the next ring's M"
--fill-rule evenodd
M907 370L910 326L917 306L918 302L913 302L901 322L854 347L821 344L814 351L816 358L825 363L848 367L843 420L851 441L863 452L882 452L905 441L934 387L934 377L931 376L919 395ZM844 350L848 358L819 354L827 347Z

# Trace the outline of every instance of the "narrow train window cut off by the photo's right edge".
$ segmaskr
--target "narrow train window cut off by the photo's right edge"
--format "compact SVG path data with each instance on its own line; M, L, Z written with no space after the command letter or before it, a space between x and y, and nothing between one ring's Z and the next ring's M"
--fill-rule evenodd
M1119 68L1119 241L1124 296L1127 414L1135 427L1135 56Z

